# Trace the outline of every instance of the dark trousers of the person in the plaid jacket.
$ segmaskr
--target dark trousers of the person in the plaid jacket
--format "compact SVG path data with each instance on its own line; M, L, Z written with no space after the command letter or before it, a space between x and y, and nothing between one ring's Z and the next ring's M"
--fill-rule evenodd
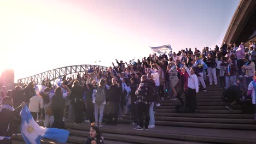
M148 129L149 124L149 104L139 103L138 104L138 116L139 116L139 127L143 128L143 113L146 115L145 128Z

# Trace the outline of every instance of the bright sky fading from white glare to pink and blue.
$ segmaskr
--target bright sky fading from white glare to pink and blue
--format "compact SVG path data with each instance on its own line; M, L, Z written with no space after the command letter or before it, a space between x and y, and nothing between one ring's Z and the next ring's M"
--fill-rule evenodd
M0 73L15 81L77 64L222 44L238 0L0 0Z

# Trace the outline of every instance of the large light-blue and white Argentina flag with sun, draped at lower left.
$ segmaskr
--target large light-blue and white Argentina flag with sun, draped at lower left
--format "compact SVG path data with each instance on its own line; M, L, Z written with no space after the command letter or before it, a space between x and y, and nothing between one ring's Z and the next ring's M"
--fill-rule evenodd
M21 134L24 141L27 144L39 144L40 140L46 138L56 140L57 142L66 142L68 139L69 131L56 128L44 128L40 127L36 121L34 121L30 111L25 105L20 116L22 118Z

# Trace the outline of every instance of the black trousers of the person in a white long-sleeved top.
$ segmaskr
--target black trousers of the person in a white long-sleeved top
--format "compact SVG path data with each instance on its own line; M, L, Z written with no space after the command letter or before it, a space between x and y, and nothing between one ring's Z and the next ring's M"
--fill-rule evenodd
M196 90L191 88L188 88L188 109L190 112L195 112L197 109Z

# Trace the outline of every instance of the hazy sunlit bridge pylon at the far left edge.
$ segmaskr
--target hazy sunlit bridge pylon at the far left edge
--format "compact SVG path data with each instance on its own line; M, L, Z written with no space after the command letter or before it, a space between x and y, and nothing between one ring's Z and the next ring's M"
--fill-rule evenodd
M0 90L5 86L7 90L14 89L14 70L4 70L0 77Z

